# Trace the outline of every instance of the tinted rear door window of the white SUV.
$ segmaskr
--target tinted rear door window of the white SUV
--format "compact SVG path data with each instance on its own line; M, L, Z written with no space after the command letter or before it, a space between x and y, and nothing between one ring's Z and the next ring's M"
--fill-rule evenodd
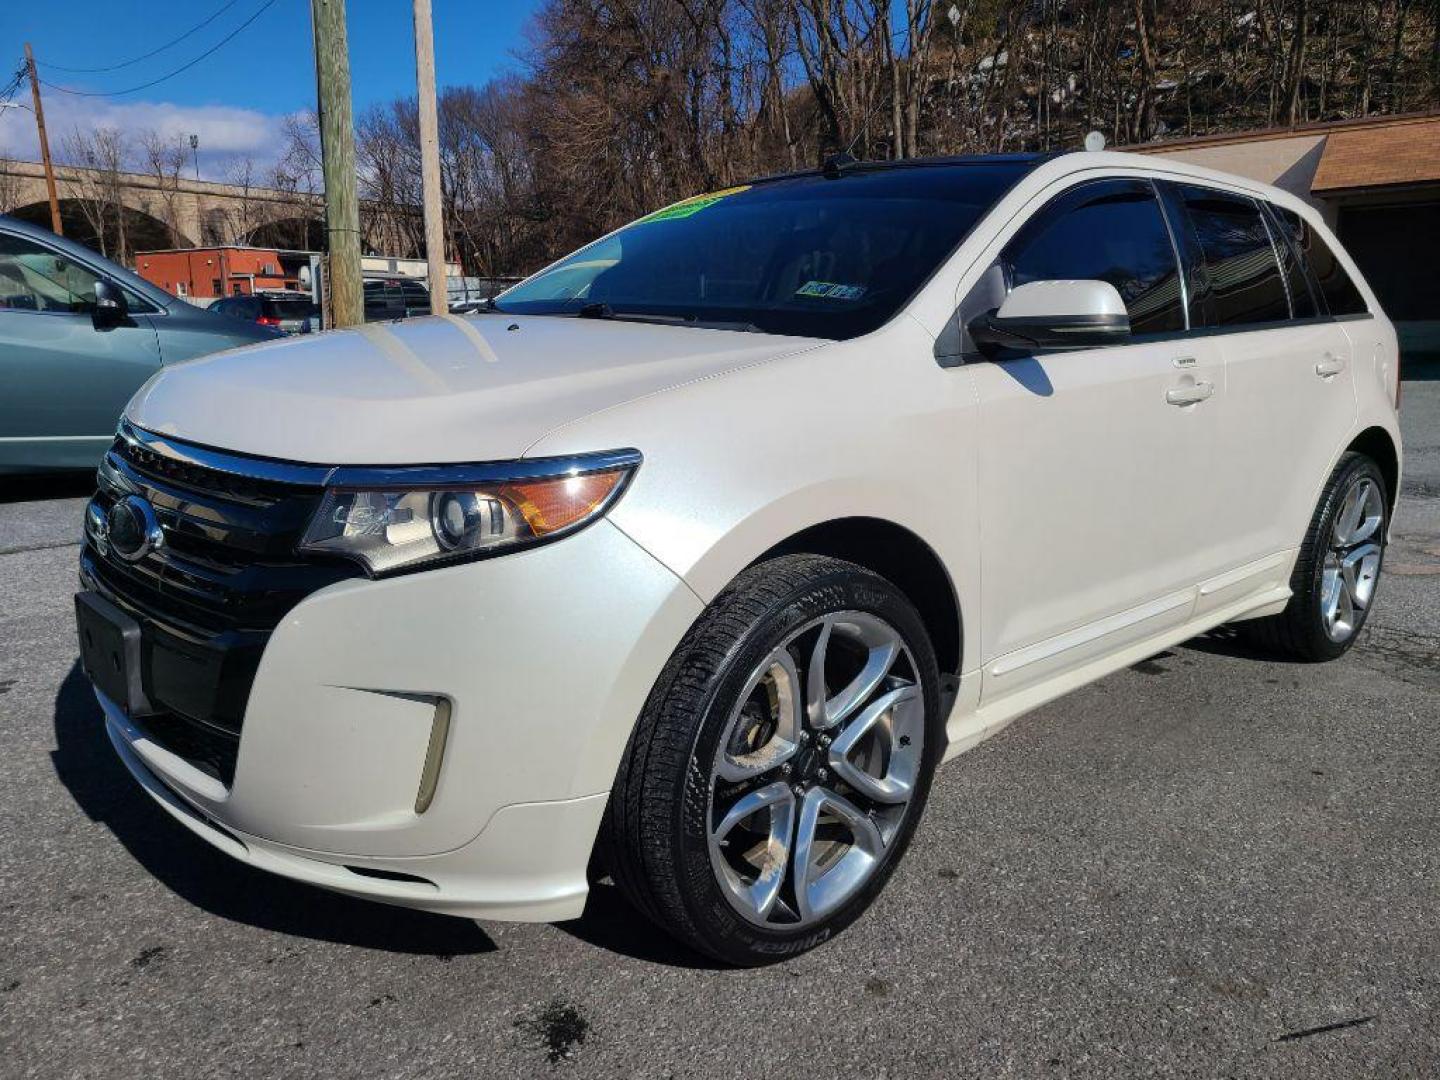
M1181 187L1181 196L1205 256L1210 324L1287 320L1290 302L1280 265L1254 200L1188 186Z

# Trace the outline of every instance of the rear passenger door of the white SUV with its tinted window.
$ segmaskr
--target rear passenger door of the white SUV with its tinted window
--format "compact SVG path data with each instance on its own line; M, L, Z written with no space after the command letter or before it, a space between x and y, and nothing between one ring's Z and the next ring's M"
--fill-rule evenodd
M1225 360L1224 563L1273 576L1269 562L1299 546L1354 425L1354 350L1263 203L1198 184L1174 193L1202 252L1200 310Z

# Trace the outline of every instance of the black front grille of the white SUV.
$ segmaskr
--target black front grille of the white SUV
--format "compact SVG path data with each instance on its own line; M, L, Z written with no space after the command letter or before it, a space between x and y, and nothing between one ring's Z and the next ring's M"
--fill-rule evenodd
M276 480L279 471L122 428L101 464L95 504L105 513L143 495L164 543L134 563L91 539L81 552L85 586L143 628L145 697L160 711L137 723L226 785L271 632L310 593L360 573L295 554L324 471L297 468L297 480Z

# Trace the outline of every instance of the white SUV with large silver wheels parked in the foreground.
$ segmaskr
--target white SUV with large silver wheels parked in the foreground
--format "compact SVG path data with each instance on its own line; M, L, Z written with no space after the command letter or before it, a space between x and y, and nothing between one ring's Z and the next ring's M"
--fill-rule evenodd
M756 180L469 318L156 376L86 514L109 737L253 865L760 963L935 768L1220 624L1341 655L1395 334L1316 212L1125 154Z

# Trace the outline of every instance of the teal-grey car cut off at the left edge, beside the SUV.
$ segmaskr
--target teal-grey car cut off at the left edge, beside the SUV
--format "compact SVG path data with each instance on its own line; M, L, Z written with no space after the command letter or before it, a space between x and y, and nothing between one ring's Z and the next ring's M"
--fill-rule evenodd
M161 364L278 336L0 215L0 474L94 468Z

